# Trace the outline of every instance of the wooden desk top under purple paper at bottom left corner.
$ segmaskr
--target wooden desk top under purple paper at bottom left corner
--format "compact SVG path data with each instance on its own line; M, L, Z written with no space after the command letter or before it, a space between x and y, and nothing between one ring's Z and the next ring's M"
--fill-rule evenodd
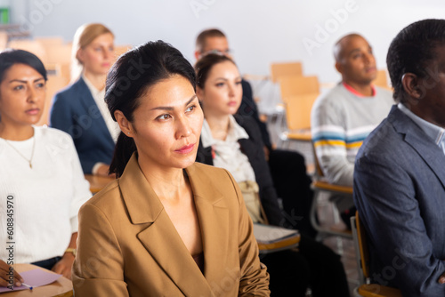
M32 264L15 264L14 269L19 273L32 269L42 269ZM66 277L59 277L53 284L38 286L31 290L20 290L8 293L0 293L0 296L4 297L36 297L36 296L52 296L52 297L72 297L73 296L73 284Z

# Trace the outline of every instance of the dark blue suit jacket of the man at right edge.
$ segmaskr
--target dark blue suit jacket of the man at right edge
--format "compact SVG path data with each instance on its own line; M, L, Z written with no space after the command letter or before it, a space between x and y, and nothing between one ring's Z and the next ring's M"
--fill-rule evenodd
M374 281L403 296L444 296L445 155L396 106L360 148L353 193Z

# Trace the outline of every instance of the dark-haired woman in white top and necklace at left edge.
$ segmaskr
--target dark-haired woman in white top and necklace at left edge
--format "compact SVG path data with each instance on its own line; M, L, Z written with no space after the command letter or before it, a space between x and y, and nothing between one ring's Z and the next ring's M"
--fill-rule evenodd
M12 264L33 263L71 276L77 213L91 197L71 137L36 127L46 70L21 50L0 53L0 286ZM18 274L15 282L22 281Z

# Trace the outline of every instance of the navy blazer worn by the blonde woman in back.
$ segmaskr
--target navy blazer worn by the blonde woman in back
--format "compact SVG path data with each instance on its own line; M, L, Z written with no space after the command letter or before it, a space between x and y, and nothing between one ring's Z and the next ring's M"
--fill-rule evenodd
M71 135L85 174L98 162L111 162L114 140L82 78L55 95L50 125Z

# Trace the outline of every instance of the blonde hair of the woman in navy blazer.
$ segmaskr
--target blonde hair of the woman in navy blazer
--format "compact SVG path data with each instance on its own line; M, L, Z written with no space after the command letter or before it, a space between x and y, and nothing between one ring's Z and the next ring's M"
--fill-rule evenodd
M97 23L85 24L77 28L73 38L73 50L71 52L71 83L77 81L82 71L84 71L84 65L77 59L77 52L81 48L85 48L85 46L91 44L97 36L107 33L114 37L113 32L111 32L109 28Z

